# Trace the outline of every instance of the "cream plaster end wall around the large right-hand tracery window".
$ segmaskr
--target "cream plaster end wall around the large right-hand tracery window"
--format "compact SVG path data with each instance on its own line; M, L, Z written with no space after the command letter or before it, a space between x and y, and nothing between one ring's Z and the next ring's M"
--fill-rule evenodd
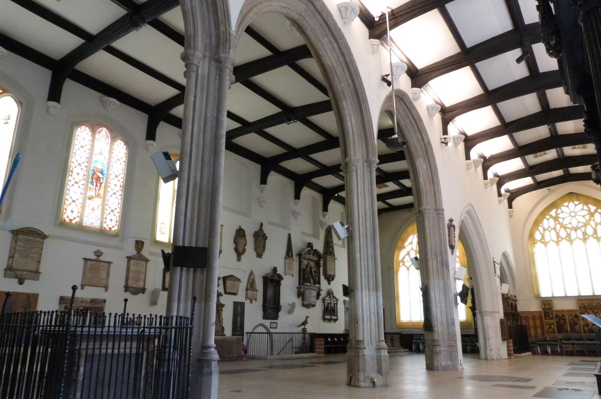
M511 231L514 247L514 266L516 267L516 294L517 308L519 311L540 311L542 299L553 299L556 309L576 309L579 298L584 296L570 297L535 297L534 276L530 260L528 236L534 219L553 201L561 198L567 193L575 192L599 198L599 186L592 181L581 181L577 183L564 183L549 189L537 190L519 196L513 201L513 216L511 216Z

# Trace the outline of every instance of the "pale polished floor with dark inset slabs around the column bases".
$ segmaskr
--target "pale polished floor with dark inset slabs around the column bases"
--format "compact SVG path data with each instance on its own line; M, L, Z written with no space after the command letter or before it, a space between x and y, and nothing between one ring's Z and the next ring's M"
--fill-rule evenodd
M346 355L219 362L219 399L597 399L599 359L537 355L484 361L464 355L457 371L426 371L424 355L390 355L390 386L345 384Z

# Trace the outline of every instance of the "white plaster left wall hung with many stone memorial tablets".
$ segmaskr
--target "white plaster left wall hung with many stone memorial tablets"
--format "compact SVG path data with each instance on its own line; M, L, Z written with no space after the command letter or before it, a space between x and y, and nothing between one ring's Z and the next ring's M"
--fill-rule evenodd
M56 116L46 112L46 95L50 73L31 62L9 53L2 59L0 84L7 87L23 101L23 117L17 132L16 151L23 158L11 184L10 192L0 215L0 262L8 259L11 242L10 230L21 227L35 227L49 235L44 242L39 281L26 280L19 285L16 279L4 278L0 273L0 290L39 293L38 309L56 309L59 296L69 296L72 285L81 284L84 257L93 257L93 251L101 249L103 259L113 261L109 290L86 287L79 289L78 296L106 299L107 311L120 311L123 299L129 299L130 312L163 313L166 305L166 293L160 294L159 305L150 305L150 296L154 288L162 284L162 260L160 249L170 248L153 243L153 228L156 210L156 193L159 178L144 145L147 116L121 105L110 113L100 105L100 94L80 85L67 81L61 109ZM58 225L61 210L61 196L69 161L73 124L77 121L100 121L108 124L120 133L129 144L127 162L126 189L121 218L121 233L118 237L106 234L90 233L76 228ZM177 153L179 149L178 130L166 124L160 124L157 132L157 146L154 150L169 150ZM284 256L288 233L291 233L293 251L296 255L306 248L308 242L314 248L323 250L324 234L319 222L321 216L321 198L305 190L298 209L302 215L296 221L292 211L297 209L293 201L293 183L290 180L272 174L267 190L259 190L260 168L252 162L234 154L227 154L225 161L224 211L222 212L223 253L219 258L219 275L236 275L242 279L237 296L221 297L224 308L224 327L231 334L233 302L246 302L245 330L249 331L262 320L261 302L263 300L263 281L275 266L284 275ZM275 183L273 183L275 182ZM273 184L272 184L273 183ZM277 183L277 184L276 184ZM264 209L258 205L260 196L269 199ZM316 207L313 209L313 207ZM344 220L344 210L337 203L329 207L332 218ZM278 225L269 224L276 215ZM257 258L253 250L252 233L258 230L260 223L267 236L267 248L263 258ZM248 246L242 262L236 261L233 250L234 231L242 225L246 230ZM304 227L304 228L303 228ZM302 233L307 231L308 234ZM125 293L123 285L126 274L126 256L135 254L134 241L145 241L143 253L150 258L146 280L147 291L136 296ZM310 332L344 332L344 308L342 284L347 284L346 250L334 237L337 260L337 277L328 285L323 279L323 295L333 288L340 299L337 323L322 321L323 302L318 300L312 309L303 308L296 297L297 270L294 276L285 276L282 281L281 304L278 332L299 330L296 326L310 316ZM258 300L249 303L245 300L245 286L248 274L254 270L257 278ZM223 287L219 288L223 291ZM296 303L293 314L288 314L288 304Z

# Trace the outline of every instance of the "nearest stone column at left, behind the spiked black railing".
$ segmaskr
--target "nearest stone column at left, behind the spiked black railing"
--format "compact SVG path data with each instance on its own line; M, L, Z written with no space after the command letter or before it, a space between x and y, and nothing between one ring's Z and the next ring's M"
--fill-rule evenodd
M186 65L186 94L182 124L180 174L175 207L174 245L208 248L206 269L173 267L169 279L169 314L189 315L198 296L192 346L191 392L216 398L219 356L215 322L221 190L225 155L225 115L229 55L182 53Z

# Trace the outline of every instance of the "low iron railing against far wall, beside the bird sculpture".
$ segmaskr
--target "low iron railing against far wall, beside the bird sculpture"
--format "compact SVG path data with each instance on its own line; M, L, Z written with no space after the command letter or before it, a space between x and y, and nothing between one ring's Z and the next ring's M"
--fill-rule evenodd
M284 356L315 352L314 333L247 332L246 356Z

